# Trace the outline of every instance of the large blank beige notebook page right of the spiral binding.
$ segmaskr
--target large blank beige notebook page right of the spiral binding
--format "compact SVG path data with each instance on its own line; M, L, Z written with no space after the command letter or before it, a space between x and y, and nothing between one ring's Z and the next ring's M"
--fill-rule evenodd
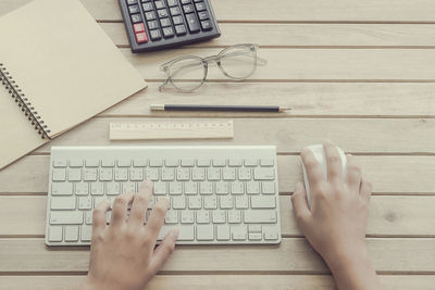
M0 18L0 39L50 137L146 87L78 0L35 0Z

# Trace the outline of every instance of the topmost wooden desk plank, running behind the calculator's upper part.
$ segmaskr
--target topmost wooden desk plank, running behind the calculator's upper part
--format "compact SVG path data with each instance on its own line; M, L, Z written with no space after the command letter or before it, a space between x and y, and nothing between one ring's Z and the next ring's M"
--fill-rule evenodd
M0 15L30 0L0 1ZM97 20L121 21L116 0L82 0ZM273 5L262 1L212 1L219 21L248 22L434 22L432 0L276 0Z

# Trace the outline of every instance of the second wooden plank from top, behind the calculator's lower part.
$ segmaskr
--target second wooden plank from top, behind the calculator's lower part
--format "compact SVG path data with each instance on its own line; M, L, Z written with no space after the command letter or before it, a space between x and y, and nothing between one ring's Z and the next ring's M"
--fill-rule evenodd
M128 47L123 23L100 23L113 42ZM434 47L433 24L221 23L221 37L192 47L258 43L262 47Z

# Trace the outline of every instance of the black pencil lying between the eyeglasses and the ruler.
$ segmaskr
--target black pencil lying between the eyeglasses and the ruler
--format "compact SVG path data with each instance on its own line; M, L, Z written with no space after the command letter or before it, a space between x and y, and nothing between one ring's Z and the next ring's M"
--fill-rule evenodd
M290 110L278 105L151 104L151 111L274 112Z

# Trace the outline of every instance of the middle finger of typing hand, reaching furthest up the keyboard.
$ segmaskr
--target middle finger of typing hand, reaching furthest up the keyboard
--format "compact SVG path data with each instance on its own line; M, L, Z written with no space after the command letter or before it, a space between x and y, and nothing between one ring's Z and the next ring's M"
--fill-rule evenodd
M132 225L144 226L145 215L152 194L152 182L146 180L141 184L139 192L135 196L132 210L129 212L128 223Z

